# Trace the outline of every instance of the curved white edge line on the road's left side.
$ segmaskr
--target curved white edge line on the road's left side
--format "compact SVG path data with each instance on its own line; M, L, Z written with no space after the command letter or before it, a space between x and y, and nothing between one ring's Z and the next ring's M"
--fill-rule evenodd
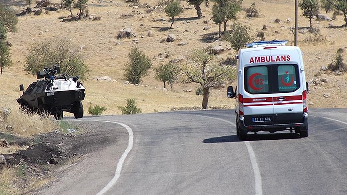
M117 180L119 179L120 177L120 172L122 170L122 167L123 167L123 164L124 164L124 161L125 161L125 158L126 156L129 154L129 152L131 151L132 149L132 146L133 146L133 143L134 143L134 134L132 132L132 129L125 125L124 123L118 123L118 122L113 122L113 121L102 121L102 120L83 120L83 121L97 121L97 122L107 122L107 123L116 123L116 124L119 124L123 127L125 127L126 131L128 131L128 134L129 134L129 143L128 143L128 147L126 148L126 150L124 151L124 153L122 154L121 158L119 159L118 161L118 164L117 164L117 169L116 169L116 172L115 172L115 175L114 177L112 178L111 181L109 181L109 183L103 188L101 189L100 192L98 192L97 195L102 195L104 193L106 193L108 190L110 190L110 188L116 184Z

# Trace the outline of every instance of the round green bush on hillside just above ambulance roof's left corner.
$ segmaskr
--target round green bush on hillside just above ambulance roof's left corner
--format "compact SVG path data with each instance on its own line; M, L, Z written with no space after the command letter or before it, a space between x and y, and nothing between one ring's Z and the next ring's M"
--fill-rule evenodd
M231 30L225 36L225 40L231 43L232 49L238 51L243 48L246 43L250 42L253 38L249 35L249 27L240 23L231 25Z

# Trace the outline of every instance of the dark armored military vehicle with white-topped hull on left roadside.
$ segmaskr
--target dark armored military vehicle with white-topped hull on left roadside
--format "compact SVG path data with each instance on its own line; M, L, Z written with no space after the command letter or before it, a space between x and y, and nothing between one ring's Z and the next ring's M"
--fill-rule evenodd
M67 74L59 74L60 67L44 68L37 71L37 80L24 91L23 84L19 86L23 95L17 99L21 108L32 112L48 113L55 119L63 118L63 112L73 113L75 118L83 117L82 100L85 97L85 87L78 81L79 76L70 78ZM59 75L58 75L59 74Z

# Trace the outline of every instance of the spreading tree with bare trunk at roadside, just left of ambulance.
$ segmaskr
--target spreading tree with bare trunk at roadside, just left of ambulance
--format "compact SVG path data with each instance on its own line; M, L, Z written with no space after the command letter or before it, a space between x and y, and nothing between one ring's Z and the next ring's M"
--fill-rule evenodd
M183 82L198 83L203 89L202 108L207 109L209 89L220 87L225 82L235 79L235 69L228 65L221 66L214 61L214 56L204 49L195 49L182 65Z

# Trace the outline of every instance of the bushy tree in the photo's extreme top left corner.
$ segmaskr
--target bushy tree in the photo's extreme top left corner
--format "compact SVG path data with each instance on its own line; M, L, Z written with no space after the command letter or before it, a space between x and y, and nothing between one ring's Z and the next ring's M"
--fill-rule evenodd
M0 24L2 24L6 32L16 32L18 18L16 12L8 6L0 3Z

